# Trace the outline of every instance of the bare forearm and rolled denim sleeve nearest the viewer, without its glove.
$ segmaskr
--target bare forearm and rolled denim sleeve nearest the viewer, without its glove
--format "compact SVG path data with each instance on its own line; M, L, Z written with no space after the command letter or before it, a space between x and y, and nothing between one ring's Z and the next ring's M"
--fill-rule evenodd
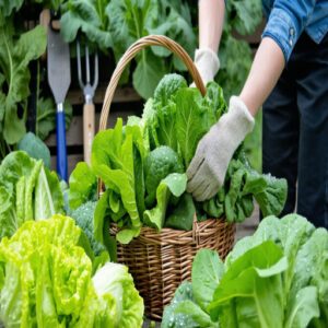
M315 8L315 0L276 0L239 98L253 116L274 87Z

